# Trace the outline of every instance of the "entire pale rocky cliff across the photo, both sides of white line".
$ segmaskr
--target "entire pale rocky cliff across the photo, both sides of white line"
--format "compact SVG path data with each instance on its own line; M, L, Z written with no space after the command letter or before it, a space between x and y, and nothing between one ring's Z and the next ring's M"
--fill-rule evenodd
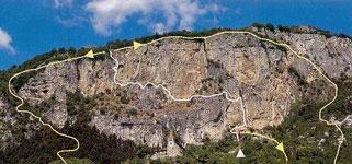
M331 78L352 77L352 42L348 38L252 30L288 43ZM63 128L71 117L67 112L66 92L79 91L92 97L123 87L127 92L120 96L129 99L123 105L107 105L104 112L92 108L89 124L101 132L160 148L169 152L166 155L171 155L175 144L219 140L236 126L262 129L279 125L291 105L304 95L323 101L333 91L307 61L247 34L195 40L161 39L137 50L112 50L111 57L46 68L31 78L19 94L32 105L55 97L56 104L43 116ZM115 60L118 61L117 74ZM114 81L122 84L151 82L167 90L151 85L145 89L134 84L121 86ZM323 90L315 87L317 83ZM219 94L224 92L234 101ZM219 95L182 102L173 99L212 94ZM112 98L112 95L103 97ZM0 107L3 106L0 101ZM133 109L137 114L126 116L117 108ZM7 136L2 131L2 139Z

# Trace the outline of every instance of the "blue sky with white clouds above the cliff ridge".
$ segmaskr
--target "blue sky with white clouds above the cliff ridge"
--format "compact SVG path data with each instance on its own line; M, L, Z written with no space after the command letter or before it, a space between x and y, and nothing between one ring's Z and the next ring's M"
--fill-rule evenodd
M252 22L352 35L349 0L0 0L0 70L60 47Z

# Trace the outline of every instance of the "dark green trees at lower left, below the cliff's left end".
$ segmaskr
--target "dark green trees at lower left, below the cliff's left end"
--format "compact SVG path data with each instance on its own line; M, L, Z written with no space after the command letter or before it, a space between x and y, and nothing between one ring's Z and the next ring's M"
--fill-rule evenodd
M115 136L106 136L98 129L88 126L90 122L89 112L94 105L91 98L84 97L80 92L68 93L67 107L70 116L79 116L73 125L67 125L60 130L64 133L75 136L80 141L80 149L73 153L64 154L65 157L77 157L86 160L75 160L75 163L98 164L120 163L134 156L145 157L152 151L145 145L136 145L132 141L123 141ZM50 106L53 101L41 103L38 108ZM24 106L29 107L29 106ZM27 108L33 110L33 108ZM19 131L23 133L24 131ZM0 163L49 163L58 160L56 152L61 149L73 148L76 142L67 138L61 138L48 128L41 128L27 140L24 137L21 144L5 152L0 151ZM60 163L56 161L54 163Z

